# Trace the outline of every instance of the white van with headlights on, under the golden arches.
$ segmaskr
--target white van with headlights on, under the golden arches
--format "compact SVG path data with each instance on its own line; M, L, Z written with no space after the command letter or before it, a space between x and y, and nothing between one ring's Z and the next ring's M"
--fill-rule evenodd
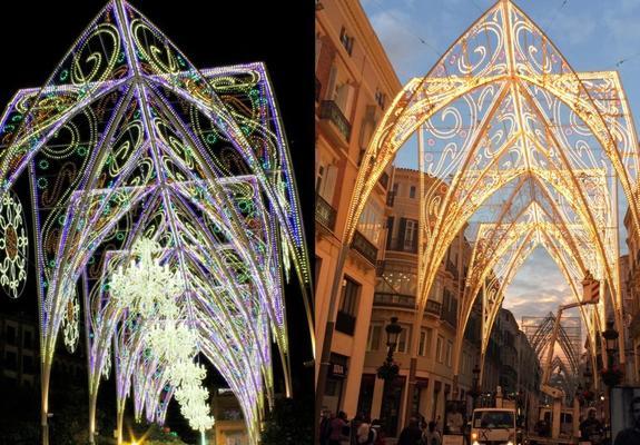
M473 411L471 445L520 445L515 409L479 408Z

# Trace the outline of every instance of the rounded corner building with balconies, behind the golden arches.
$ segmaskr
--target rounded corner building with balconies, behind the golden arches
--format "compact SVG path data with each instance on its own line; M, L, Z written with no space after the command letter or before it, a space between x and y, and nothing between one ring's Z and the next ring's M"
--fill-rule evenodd
M419 171L396 168L387 199L387 236L377 267L377 285L366 343L366 360L361 385L358 412L383 418L388 435L395 436L406 415L427 419L444 418L445 403L453 399L453 363L460 293L471 259L471 246L461 233L452 243L437 271L426 304L420 332L414 332L417 293L417 237L420 196ZM434 180L426 178L426 180ZM385 359L385 326L397 317L403 327L394 353L400 375L385 386L376 369ZM407 395L413 336L417 336L416 383ZM456 399L467 400L473 386L473 367L479 358L480 310L473 310L465 333ZM411 413L403 413L411 397Z

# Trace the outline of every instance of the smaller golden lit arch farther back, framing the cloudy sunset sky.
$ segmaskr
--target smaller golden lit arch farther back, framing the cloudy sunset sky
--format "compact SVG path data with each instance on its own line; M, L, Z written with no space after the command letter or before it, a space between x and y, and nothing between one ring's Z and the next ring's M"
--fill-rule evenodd
M589 174L590 178L593 178L593 182L597 182L600 188L600 206L598 208L603 212L602 217L607 218L607 215L611 211L607 182L601 171L590 171ZM511 283L520 265L538 245L547 247L547 250L551 254L570 284L577 300L581 299L580 281L584 273L590 269L594 270L599 276L601 275L600 269L602 267L598 261L593 263L593 259L589 258L590 239L588 234L584 234L581 225L571 224L568 220L567 216L549 195L543 182L539 181L536 184L543 191L545 201L550 204L549 210L541 207L539 202L532 201L520 209L512 220L504 220L506 211L503 210L501 219L496 224L481 225L475 237L477 241L472 251L470 270L465 279L465 290L460 305L461 317L459 318L457 328L461 332L465 329L475 296L482 295L483 342L481 357L484 357L488 339L504 297L505 288ZM509 201L522 189L524 181L514 188ZM610 226L610 224L607 224L607 226ZM610 241L613 241L613 239L610 239ZM608 259L613 261L614 257L612 255L616 254L616 249L610 248L608 251L610 253ZM490 283L489 286L486 283ZM602 303L600 305L602 306ZM589 310L582 308L582 315L590 335L592 355L595 356L595 329L593 329L589 313ZM598 325L602 326L603 324L599 320ZM461 347L462 342L456 342L454 347L455 358L459 358ZM459 360L454 359L454 372L459 366Z

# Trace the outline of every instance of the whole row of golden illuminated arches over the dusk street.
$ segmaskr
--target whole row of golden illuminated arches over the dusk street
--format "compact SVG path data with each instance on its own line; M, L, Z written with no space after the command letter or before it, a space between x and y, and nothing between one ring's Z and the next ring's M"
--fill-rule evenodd
M474 247L457 332L484 288L486 343L500 293L536 245L550 251L575 297L587 270L603 283L605 301L582 310L590 339L603 326L604 304L623 329L613 209L620 184L638 224L639 154L616 71L574 72L524 12L499 0L425 77L407 82L380 122L352 196L338 270L372 189L416 131L421 170L437 179L421 196L416 323L446 249L467 225L467 239L489 240ZM416 348L413 342L412 362ZM460 350L457 342L455 377Z

